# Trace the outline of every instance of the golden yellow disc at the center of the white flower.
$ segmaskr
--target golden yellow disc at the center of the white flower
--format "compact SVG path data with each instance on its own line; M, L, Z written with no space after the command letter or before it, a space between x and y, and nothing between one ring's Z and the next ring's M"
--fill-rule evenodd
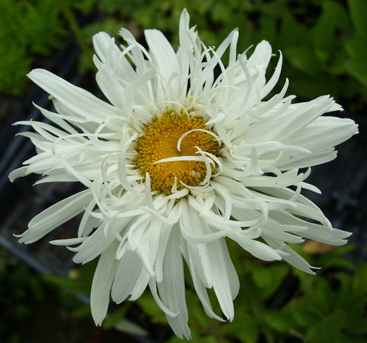
M182 183L188 186L202 183L207 175L207 165L203 160L185 160L182 157L183 160L158 161L179 156L198 157L198 148L218 156L218 141L208 132L212 131L202 117L190 117L176 111L165 112L145 127L138 140L138 156L134 163L143 176L149 173L152 190L169 195L175 179L178 190L185 187Z

